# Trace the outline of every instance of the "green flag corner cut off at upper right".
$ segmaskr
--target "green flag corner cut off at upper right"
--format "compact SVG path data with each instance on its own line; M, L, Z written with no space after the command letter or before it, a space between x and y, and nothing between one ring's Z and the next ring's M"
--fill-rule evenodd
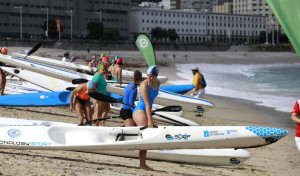
M300 58L300 0L266 0Z

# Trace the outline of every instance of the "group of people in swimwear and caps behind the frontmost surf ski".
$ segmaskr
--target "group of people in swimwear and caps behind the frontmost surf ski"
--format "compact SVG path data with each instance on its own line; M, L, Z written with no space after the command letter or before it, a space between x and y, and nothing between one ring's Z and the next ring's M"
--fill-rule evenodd
M100 64L96 64L96 57L92 56L89 67L97 67L97 72L92 80L85 84L76 87L70 95L70 110L73 111L74 107L78 115L78 124L83 124L84 119L86 122L91 123L93 126L105 126L105 122L101 119L105 118L110 110L110 104L98 101L89 97L89 92L95 91L106 94L106 79L111 75L112 80L122 83L122 58L116 56L111 63L107 56L103 56ZM147 79L142 82L142 73L136 70L133 74L133 81L129 83L124 92L123 102L134 105L134 102L139 95L139 103L135 108L123 104L120 116L124 120L124 125L128 126L148 126L153 128L152 119L152 105L155 97L158 95L160 82L157 79L159 69L153 65L147 70ZM140 86L139 86L140 85ZM138 86L139 93L138 93ZM75 98L74 98L75 96ZM74 100L74 101L73 101ZM92 108L90 100L94 106L94 113L92 116ZM139 151L140 168L145 170L152 170L146 164L146 150Z

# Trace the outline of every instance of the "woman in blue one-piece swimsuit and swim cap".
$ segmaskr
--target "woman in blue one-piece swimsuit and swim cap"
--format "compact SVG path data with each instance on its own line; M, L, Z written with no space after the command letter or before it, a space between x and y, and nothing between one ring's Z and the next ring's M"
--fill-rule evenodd
M147 70L147 79L140 85L140 102L134 108L133 120L137 126L148 126L153 128L152 105L158 95L160 82L157 80L158 67L152 65ZM146 164L147 150L139 151L140 168L144 170L153 170Z

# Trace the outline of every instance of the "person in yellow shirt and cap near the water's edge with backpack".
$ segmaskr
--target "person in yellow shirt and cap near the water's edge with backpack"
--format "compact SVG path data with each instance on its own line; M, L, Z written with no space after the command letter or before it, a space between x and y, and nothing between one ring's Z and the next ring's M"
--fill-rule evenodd
M205 94L205 88L202 87L201 83L202 83L202 79L203 79L203 75L199 72L199 68L198 67L193 67L192 68L192 72L194 75L193 78L193 85L196 86L193 89L193 93L192 96L195 98L204 98L204 94Z

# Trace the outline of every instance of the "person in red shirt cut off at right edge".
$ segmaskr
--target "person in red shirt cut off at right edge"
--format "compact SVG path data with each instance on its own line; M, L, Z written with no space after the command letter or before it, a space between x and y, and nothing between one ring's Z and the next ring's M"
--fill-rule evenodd
M298 151L300 152L300 99L296 101L292 115L291 115L292 121L296 122L296 134L295 134L295 141L298 148ZM300 162L300 160L299 160Z

